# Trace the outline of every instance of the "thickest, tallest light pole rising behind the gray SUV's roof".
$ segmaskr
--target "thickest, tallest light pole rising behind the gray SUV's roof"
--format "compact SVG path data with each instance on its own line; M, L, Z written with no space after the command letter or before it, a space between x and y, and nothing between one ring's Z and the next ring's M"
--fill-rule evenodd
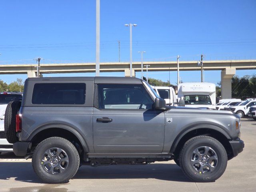
M96 0L96 76L100 76L100 0Z

